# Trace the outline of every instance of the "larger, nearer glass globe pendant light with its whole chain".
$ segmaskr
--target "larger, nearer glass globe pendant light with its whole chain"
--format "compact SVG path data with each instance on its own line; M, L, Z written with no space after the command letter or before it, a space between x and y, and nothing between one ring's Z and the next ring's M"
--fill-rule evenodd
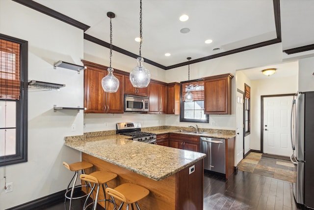
M140 34L140 44L139 44L139 55L137 58L137 66L133 68L130 72L130 81L135 88L146 88L151 81L151 73L147 68L143 66L144 59L141 54L142 47L142 0L140 0L140 13L139 13L139 34Z

